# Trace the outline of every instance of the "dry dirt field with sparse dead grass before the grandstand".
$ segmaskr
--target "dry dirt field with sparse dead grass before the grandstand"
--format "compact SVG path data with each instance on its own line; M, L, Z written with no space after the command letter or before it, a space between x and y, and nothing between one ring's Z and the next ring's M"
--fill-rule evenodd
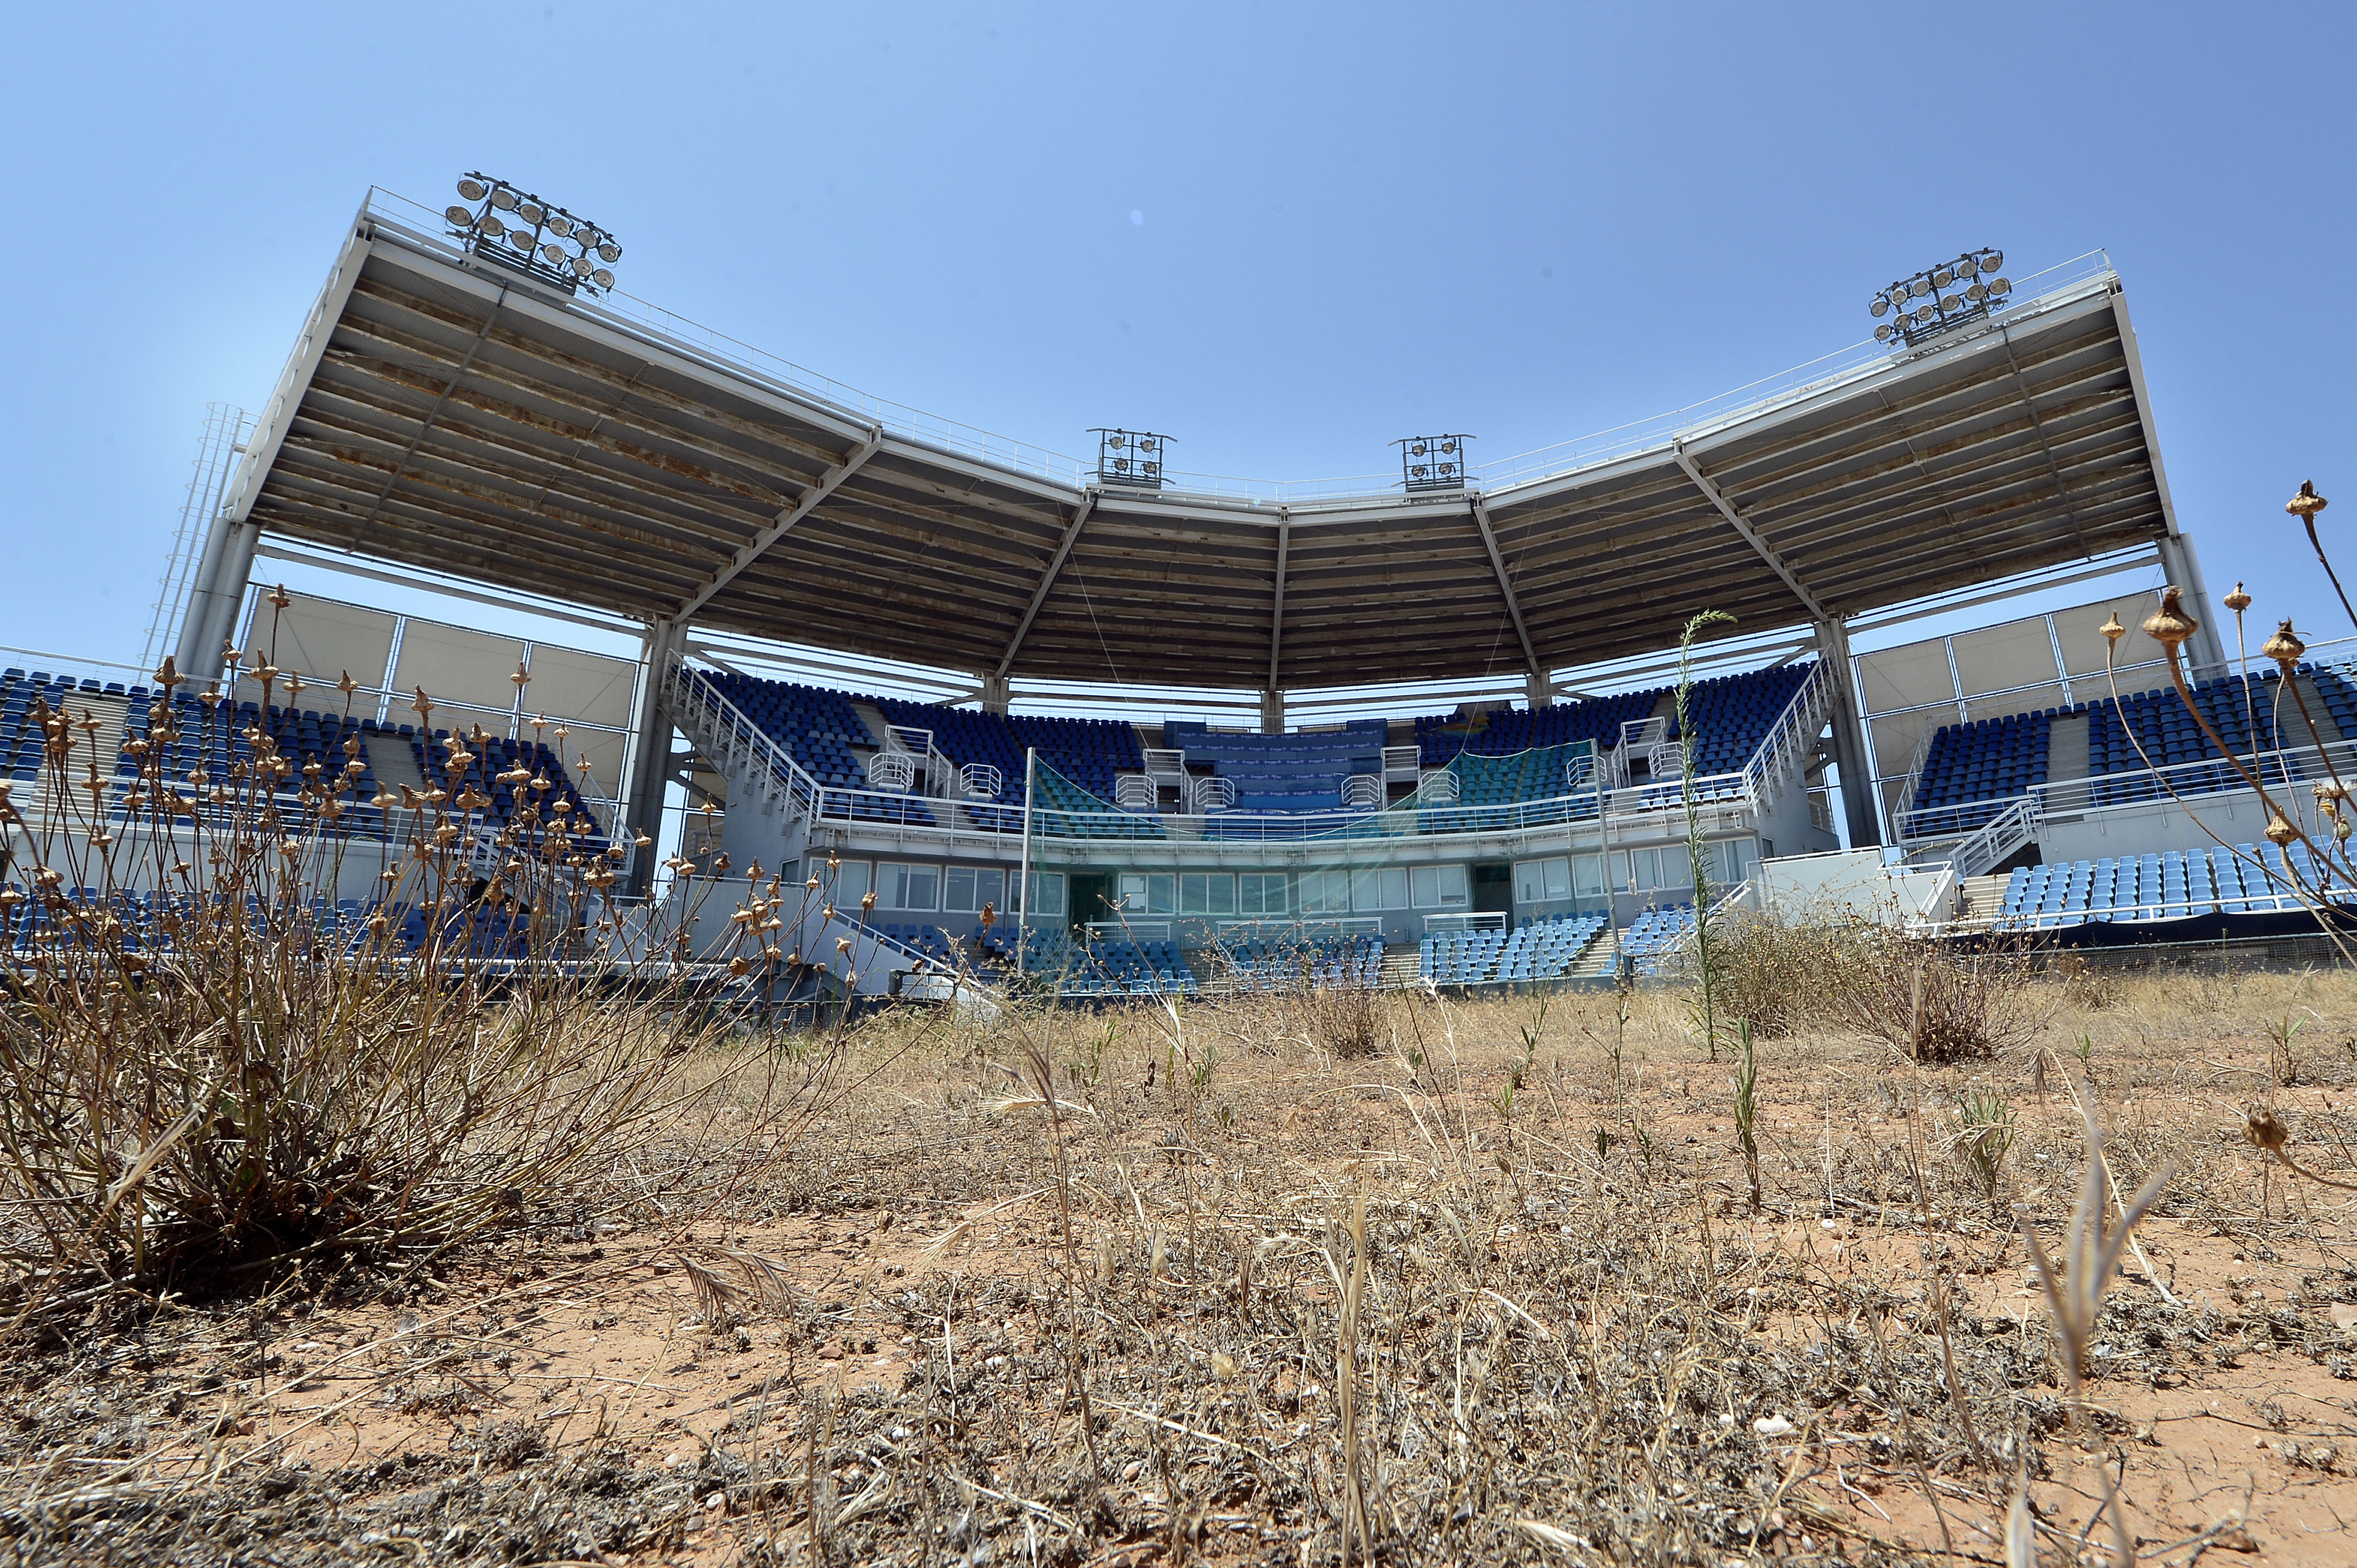
M2044 984L2008 1059L1763 1041L1756 1208L1681 991L882 1017L721 1212L615 1170L427 1274L19 1344L0 1554L1994 1563L2020 1471L2065 1563L2107 1469L2140 1561L2357 1559L2357 1191L2244 1135L2357 1180L2357 979ZM2171 1172L2086 1410L2018 1231L2077 1083L2124 1191Z

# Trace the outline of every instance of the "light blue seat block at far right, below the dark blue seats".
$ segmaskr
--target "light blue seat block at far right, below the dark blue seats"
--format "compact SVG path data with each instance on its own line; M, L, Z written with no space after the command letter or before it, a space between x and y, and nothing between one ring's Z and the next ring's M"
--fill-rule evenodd
M2018 866L2006 878L1999 930L2048 930L2088 923L2183 921L2201 913L2279 913L2300 909L2300 885L2331 885L2331 897L2357 897L2348 878L2317 876L2308 845L2272 843L2232 850L2168 850L2119 859L2072 859Z

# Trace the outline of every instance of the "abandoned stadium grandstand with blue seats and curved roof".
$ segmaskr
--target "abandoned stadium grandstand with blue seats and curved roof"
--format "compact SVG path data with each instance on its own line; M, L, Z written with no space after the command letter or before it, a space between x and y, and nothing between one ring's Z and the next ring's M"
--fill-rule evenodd
M148 652L189 685L0 678L19 805L61 711L125 775L153 737L189 772L269 735L368 800L570 812L634 897L816 883L790 944L823 986L976 965L1101 1001L1605 979L1723 904L1836 892L1940 932L2260 930L2305 862L2232 848L2237 768L2357 763L2348 650L2225 659L2100 254L2013 283L1968 252L1897 332L1610 436L1487 466L1409 438L1398 476L1292 485L856 393L618 292L587 242L497 242L544 205L467 191L372 191L259 417L207 426ZM276 563L354 600L276 596ZM363 603L384 582L462 610ZM2150 650L2091 652L2159 582L2204 622L2216 742ZM1893 640L2074 584L2110 598ZM1681 706L1699 610L1737 622ZM224 657L264 629L311 685ZM365 913L368 866L339 895ZM853 939L877 958L827 958Z

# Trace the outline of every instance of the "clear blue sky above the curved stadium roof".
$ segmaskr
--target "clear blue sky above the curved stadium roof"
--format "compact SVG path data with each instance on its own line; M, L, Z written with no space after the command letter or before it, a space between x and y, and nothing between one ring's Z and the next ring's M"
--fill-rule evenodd
M627 292L865 391L1254 478L1435 428L1508 457L1855 344L1966 247L2107 247L2211 589L2350 636L2282 504L2315 478L2357 527L2352 16L28 7L0 643L137 657L205 403L262 407L370 184L438 207L474 167L620 235Z

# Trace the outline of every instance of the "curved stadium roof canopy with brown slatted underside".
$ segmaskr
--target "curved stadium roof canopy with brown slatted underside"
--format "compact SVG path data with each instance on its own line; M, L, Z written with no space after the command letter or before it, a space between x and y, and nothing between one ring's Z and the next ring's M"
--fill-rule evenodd
M1329 687L1855 617L2173 534L2119 278L1475 473L1098 485L375 193L231 509L266 537L938 669ZM1188 487L1200 485L1200 487Z

